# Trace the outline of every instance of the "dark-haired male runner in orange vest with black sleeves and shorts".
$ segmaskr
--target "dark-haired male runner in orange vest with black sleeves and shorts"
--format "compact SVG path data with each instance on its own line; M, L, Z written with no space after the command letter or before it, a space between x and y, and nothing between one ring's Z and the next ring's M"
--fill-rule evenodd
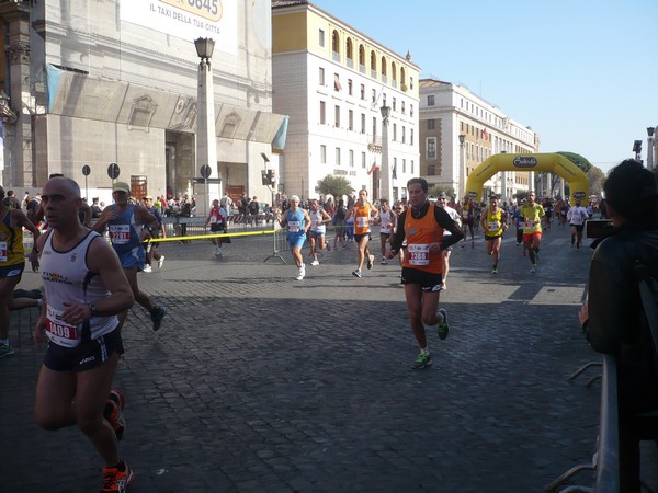
M397 255L407 239L401 283L405 285L411 332L420 348L411 368L421 369L432 364L426 325L435 329L439 339L447 337L447 313L443 308L436 310L443 283L443 251L458 243L464 234L443 208L428 200L426 180L409 180L407 191L410 207L398 218L388 257ZM451 234L444 237L443 231Z

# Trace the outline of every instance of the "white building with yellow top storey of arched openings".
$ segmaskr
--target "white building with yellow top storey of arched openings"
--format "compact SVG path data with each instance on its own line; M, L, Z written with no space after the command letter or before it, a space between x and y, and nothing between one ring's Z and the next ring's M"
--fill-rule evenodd
M384 148L393 199L405 196L407 180L419 174L418 76L409 55L313 3L273 1L273 112L290 115L281 192L317 196L318 181L331 174L381 198ZM382 146L382 106L390 107L388 146Z

